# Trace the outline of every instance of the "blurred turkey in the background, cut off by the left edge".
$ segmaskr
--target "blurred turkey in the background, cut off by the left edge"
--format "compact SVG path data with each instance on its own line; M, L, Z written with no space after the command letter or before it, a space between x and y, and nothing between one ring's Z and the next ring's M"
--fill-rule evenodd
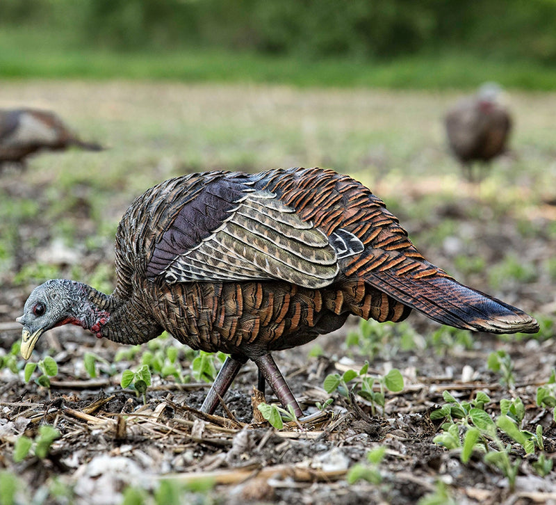
M102 150L101 145L82 141L53 112L38 109L0 109L0 165L24 165L26 157L40 150L80 147Z

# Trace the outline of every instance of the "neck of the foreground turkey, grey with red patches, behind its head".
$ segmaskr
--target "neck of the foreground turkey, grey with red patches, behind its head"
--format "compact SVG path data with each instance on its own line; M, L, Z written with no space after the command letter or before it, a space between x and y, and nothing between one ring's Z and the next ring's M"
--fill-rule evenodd
M85 295L80 297L81 306L76 307L79 321L76 324L98 338L105 337L120 344L142 344L163 331L156 321L145 317L148 314L145 307L131 297L121 296L119 289L107 295L88 284L75 284Z

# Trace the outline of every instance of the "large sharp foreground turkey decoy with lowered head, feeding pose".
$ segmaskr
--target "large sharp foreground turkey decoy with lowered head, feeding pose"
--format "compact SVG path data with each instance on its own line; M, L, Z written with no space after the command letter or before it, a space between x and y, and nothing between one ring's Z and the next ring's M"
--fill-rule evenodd
M538 330L528 314L427 262L382 200L332 170L170 179L131 204L115 254L110 296L59 279L33 290L17 319L23 357L42 332L66 323L124 344L167 330L192 348L230 355L205 412L251 359L302 415L271 352L336 330L349 314L401 321L416 309L457 328Z

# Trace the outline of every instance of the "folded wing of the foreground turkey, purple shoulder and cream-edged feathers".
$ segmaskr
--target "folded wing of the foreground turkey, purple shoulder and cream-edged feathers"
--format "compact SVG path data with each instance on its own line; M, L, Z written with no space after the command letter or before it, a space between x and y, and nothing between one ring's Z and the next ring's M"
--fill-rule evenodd
M156 243L151 278L169 283L279 279L311 288L336 278L338 254L329 237L275 193L247 188L238 198L236 188L205 191L210 194L203 195L202 205L184 206L171 233L163 232Z

